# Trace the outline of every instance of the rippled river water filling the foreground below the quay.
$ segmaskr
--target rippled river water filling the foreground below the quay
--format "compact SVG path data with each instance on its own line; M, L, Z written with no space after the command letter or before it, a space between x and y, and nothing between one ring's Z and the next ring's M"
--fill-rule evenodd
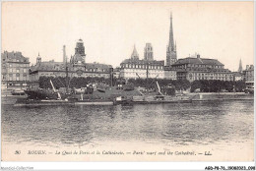
M253 100L132 106L2 105L2 144L52 149L114 148L115 144L119 148L140 144L215 146L220 150L249 145L253 149L253 105Z

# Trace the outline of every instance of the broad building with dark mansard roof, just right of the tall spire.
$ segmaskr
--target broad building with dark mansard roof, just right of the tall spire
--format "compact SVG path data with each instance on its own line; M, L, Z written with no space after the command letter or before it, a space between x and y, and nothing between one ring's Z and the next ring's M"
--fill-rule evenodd
M224 69L217 59L187 57L179 59L172 68L177 72L177 80L188 80L189 82L197 80L220 80L233 81L233 74Z

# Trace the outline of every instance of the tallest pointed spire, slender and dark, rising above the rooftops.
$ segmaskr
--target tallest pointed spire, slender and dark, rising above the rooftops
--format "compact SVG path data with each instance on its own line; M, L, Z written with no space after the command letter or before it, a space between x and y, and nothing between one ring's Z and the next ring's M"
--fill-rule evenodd
M169 43L166 49L166 66L171 66L177 61L176 42L173 40L172 14L170 13Z

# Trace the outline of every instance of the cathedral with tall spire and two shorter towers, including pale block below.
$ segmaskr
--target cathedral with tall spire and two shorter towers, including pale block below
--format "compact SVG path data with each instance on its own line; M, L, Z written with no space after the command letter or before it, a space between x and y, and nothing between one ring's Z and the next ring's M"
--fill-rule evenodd
M169 43L166 49L166 63L164 60L154 59L152 43L146 43L144 48L144 59L139 59L136 47L130 59L125 59L120 64L120 77L124 79L169 79L176 80L176 71L172 68L177 61L176 45L173 40L172 15L170 15Z

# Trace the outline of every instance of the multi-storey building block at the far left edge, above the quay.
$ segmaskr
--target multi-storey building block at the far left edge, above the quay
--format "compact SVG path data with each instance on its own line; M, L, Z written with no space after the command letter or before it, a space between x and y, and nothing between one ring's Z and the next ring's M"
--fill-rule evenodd
M30 60L22 52L7 52L2 58L2 89L26 89L29 83Z

